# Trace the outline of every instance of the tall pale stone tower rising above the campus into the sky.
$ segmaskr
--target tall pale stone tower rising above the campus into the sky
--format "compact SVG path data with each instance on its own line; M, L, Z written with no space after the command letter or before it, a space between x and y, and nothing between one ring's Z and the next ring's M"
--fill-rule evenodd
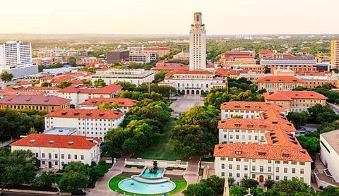
M206 70L206 30L201 12L194 13L189 31L189 70Z

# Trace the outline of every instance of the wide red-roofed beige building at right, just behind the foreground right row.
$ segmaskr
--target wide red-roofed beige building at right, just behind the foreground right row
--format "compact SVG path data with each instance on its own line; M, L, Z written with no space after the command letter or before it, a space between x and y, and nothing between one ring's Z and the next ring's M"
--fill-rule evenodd
M263 94L266 103L283 106L287 112L307 111L316 104L326 105L327 97L314 91L275 91Z

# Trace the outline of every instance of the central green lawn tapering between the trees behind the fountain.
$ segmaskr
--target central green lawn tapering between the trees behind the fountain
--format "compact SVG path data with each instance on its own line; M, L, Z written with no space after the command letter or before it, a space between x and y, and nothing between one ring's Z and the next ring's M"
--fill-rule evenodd
M134 157L167 161L186 160L184 157L180 156L180 154L177 154L171 150L171 144L169 143L169 133L172 130L174 124L174 118L170 118L169 122L165 126L165 132L160 137L159 142L157 142L156 145L148 147L148 149L145 149L143 152L135 154Z

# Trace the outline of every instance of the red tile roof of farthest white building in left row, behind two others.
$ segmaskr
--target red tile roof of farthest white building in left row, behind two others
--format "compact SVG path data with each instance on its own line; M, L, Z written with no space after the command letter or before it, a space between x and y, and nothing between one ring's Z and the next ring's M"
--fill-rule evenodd
M89 88L83 87L81 85L73 85L66 87L59 92L63 93L85 93L85 94L114 94L122 90L123 87L121 85L107 85L102 88Z

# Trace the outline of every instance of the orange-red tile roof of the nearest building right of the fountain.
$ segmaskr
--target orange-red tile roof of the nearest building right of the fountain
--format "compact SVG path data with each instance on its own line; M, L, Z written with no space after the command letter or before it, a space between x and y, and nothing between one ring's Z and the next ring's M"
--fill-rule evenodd
M295 146L233 144L215 145L214 157L235 157L247 159L270 159L282 161L306 161L312 159L305 149Z

